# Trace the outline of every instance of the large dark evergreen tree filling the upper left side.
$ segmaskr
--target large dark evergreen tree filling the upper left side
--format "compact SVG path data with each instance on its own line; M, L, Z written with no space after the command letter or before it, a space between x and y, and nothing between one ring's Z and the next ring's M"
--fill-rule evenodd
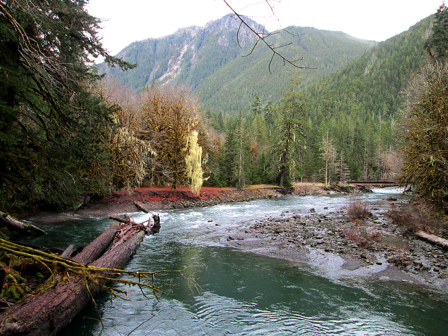
M0 207L70 204L110 180L112 110L87 88L89 58L130 65L104 50L85 4L0 2Z

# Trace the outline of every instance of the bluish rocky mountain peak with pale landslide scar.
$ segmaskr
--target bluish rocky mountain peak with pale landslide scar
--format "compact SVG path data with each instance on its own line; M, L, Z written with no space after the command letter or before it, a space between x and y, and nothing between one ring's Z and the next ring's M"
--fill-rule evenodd
M263 29L248 19L254 29ZM186 84L196 88L205 78L241 53L241 47L251 45L255 36L247 27L241 27L236 41L239 20L225 15L204 27L178 29L174 34L133 42L117 56L136 63L126 72L108 68L104 63L99 71L120 79L125 85L139 91L153 82L158 84Z

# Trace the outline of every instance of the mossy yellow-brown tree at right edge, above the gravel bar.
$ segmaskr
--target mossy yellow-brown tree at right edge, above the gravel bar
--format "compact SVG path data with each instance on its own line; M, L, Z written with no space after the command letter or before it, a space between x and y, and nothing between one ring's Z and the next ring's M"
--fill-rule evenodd
M448 63L427 64L408 89L402 185L448 207Z

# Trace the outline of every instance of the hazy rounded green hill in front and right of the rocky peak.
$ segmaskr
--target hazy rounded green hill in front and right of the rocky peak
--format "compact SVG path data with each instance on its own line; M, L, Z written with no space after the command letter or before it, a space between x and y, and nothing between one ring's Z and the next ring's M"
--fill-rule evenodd
M275 46L292 43L280 49L281 53L290 60L303 57L296 63L298 66L317 68L301 71L304 84L340 69L374 44L342 32L310 27L291 27L289 31L296 36L280 31L267 41ZM250 49L241 55L248 52ZM250 56L233 59L204 80L195 90L204 108L213 111L248 108L255 92L261 100L272 97L277 101L286 90L294 68L284 66L279 57L274 57L269 73L271 57L272 52L260 44Z

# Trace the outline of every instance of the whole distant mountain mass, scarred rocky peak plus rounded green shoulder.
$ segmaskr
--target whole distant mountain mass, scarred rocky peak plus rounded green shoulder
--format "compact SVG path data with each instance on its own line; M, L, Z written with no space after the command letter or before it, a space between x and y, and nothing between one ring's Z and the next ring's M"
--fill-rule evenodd
M247 20L256 30L263 30L255 21ZM258 93L260 99L277 100L286 89L294 68L283 66L280 59L274 58L270 74L268 65L272 52L261 41L249 56L242 57L250 53L256 37L243 26L238 33L239 25L240 21L228 14L204 27L182 28L165 37L137 41L117 54L128 62L137 63L135 69L123 72L101 64L99 71L137 91L153 82L190 85L204 108L215 111L247 108L254 93ZM297 62L299 66L317 68L302 71L304 83L340 69L375 43L342 32L310 27L287 30L275 32L266 40L275 46L291 43L277 50L291 60L303 57L303 61Z

